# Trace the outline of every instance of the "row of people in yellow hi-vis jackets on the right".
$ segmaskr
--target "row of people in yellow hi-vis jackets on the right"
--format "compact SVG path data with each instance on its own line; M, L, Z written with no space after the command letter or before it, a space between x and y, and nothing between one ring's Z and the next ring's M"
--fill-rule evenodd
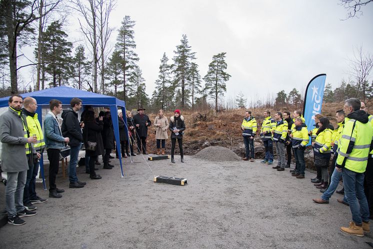
M290 170L297 179L304 178L304 150L311 138L317 175L311 178L314 186L323 194L313 199L316 203L329 203L330 196L343 179L344 194L338 202L349 205L352 221L340 230L363 236L369 232L369 219L373 219L373 116L365 112L365 104L358 99L348 99L343 109L337 110L337 126L320 114L315 115L315 127L309 132L300 111L276 112L271 118L269 110L264 111L260 136L265 148L261 163L273 163L273 143L277 152L277 165L273 169L284 171L290 167L291 152L295 168ZM250 111L245 112L241 124L245 157L242 160L254 161L253 138L257 123ZM287 157L285 156L285 150ZM331 155L333 154L331 163Z

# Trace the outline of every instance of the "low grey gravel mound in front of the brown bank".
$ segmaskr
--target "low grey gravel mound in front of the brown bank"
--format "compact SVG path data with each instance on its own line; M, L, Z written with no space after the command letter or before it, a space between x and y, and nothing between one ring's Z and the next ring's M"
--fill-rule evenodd
M206 147L195 154L193 157L212 162L241 160L241 158L237 156L233 151L221 146Z

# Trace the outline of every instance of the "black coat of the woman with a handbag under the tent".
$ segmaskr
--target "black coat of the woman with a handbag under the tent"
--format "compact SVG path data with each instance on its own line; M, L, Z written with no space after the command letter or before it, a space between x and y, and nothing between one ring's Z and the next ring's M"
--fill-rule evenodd
M102 121L99 121L98 123L96 121L84 123L83 140L85 147L88 146L87 141L97 143L96 151L87 151L89 156L98 156L103 154L103 143L101 137L102 129Z

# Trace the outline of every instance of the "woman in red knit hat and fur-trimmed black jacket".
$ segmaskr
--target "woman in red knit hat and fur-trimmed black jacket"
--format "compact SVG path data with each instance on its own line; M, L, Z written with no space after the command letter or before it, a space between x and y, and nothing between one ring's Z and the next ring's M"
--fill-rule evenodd
M171 162L174 163L173 154L175 152L176 139L180 150L181 162L184 162L184 153L182 150L182 135L185 130L184 117L180 115L180 110L174 111L174 116L169 118L168 129L171 131Z

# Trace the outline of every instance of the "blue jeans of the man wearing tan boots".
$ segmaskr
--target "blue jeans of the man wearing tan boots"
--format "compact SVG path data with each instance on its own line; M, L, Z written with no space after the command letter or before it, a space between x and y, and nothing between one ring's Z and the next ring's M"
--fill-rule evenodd
M349 169L342 169L344 195L347 198L352 221L360 225L369 220L368 202L364 194L364 173L357 173Z

